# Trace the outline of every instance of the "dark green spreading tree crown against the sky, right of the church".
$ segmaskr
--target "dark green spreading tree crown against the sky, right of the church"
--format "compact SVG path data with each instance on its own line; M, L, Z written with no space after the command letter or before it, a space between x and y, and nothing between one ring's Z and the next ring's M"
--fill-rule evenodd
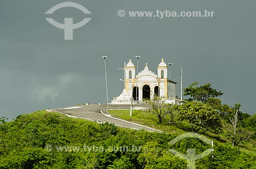
M211 84L207 83L203 86L197 87L198 82L192 83L190 86L184 89L184 95L190 95L189 100L196 100L199 102L206 102L209 98L215 98L223 93L211 88Z

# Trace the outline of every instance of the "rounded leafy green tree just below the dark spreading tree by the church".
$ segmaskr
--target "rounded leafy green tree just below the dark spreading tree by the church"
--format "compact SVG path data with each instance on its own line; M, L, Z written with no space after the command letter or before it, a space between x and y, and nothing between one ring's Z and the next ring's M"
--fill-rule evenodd
M217 110L201 102L188 102L179 107L182 119L188 120L192 132L200 130L215 131L221 128L220 115Z

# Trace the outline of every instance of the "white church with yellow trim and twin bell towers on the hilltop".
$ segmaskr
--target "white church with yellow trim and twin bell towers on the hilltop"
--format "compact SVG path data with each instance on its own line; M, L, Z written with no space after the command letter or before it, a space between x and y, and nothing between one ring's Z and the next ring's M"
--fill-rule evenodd
M141 103L143 99L152 99L154 94L163 96L166 103L179 104L176 98L176 82L168 79L168 66L162 58L157 67L157 75L151 71L147 63L138 75L135 73L135 65L130 59L124 69L123 92L111 102L111 104ZM121 79L120 79L121 80Z

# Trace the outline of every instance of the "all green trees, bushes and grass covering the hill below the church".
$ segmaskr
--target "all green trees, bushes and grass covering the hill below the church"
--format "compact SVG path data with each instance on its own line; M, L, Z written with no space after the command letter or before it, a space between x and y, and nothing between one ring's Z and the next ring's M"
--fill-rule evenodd
M110 111L163 133L97 124L47 111L19 115L12 122L2 117L0 169L187 168L187 161L169 149L182 154L195 149L201 154L211 148L198 138L169 144L187 132L214 140L214 158L209 154L197 160L196 168L256 168L256 114L242 113L240 104L222 105L215 98L221 92L209 84L196 85L186 88L191 99L182 106L165 105L158 98L155 101L161 104L155 102L151 111L134 110L132 116L126 110Z

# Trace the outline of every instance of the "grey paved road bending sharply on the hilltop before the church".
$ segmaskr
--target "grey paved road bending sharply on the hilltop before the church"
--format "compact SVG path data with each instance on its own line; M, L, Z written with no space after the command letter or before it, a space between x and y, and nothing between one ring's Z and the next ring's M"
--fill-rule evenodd
M136 105L134 107L141 107L141 105ZM111 110L111 109L130 109L130 105L109 105L109 108L106 105L88 105L88 106L78 106L75 108L61 108L61 109L51 109L52 111L57 111L60 113L65 113L67 115L81 117L81 118L87 118L90 120L95 120L99 123L114 123L116 126L126 127L126 128L132 128L132 129L138 129L138 130L147 130L152 132L161 132L159 130L152 129L150 127L134 124L131 122L127 122L125 120L121 120L115 117L111 117L107 113L105 113L105 110ZM51 111L48 110L48 111ZM103 115L100 111L103 110L103 113L106 115Z

